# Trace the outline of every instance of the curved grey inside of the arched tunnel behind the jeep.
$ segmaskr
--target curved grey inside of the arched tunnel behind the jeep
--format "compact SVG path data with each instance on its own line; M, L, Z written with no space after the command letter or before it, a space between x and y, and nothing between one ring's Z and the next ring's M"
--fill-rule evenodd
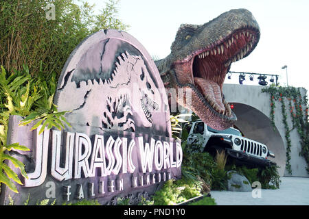
M237 116L236 128L244 137L266 144L268 149L275 153L275 158L268 157L268 159L277 163L280 167L279 175L283 176L286 167L286 149L277 128L273 130L271 120L260 110L243 103L230 102L230 104L233 104L233 112Z

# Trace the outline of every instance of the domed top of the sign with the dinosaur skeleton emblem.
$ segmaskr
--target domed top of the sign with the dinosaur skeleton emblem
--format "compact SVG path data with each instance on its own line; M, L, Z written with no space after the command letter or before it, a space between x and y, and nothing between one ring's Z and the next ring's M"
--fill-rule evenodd
M66 116L71 123L123 131L170 129L163 83L159 73L157 78L153 74L155 64L132 44L105 36L70 61L74 68L65 66L56 105L70 111Z

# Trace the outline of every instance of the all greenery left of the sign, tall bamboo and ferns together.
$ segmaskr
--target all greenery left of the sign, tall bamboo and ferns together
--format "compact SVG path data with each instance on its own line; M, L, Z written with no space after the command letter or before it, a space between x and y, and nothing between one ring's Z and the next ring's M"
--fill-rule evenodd
M49 0L0 1L0 184L14 192L18 191L13 182L21 181L8 162L19 168L23 177L27 175L24 165L8 152L29 149L6 144L9 116L23 116L20 125L38 120L32 130L42 125L39 133L45 127L70 126L65 112L57 112L53 104L56 78L67 57L84 38L100 29L128 28L116 18L118 1L109 0L98 15L94 5L78 1L52 1L54 20L46 18Z

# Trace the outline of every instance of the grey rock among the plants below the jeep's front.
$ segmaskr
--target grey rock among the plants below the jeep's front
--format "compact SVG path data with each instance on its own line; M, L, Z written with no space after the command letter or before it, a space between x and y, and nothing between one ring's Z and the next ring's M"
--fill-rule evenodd
M227 181L227 189L231 192L251 192L252 188L249 180L238 174L237 172L231 170L227 172L227 175L231 177Z

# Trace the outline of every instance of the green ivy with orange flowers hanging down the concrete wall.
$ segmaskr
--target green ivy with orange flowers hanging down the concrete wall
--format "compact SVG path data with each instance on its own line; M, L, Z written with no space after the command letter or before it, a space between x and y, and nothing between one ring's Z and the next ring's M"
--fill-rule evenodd
M305 95L301 96L300 88L294 87L275 87L269 86L263 88L262 92L267 92L271 96L271 124L275 131L275 103L279 101L282 108L282 123L284 124L285 138L286 138L286 170L289 174L292 174L290 166L290 149L291 140L290 132L297 129L299 134L301 152L299 155L306 159L306 170L309 172L309 123L308 123L308 96L307 90ZM290 112L290 118L292 120L292 127L288 125L288 112L286 110L286 101L288 102L288 112ZM306 109L303 109L305 106Z

